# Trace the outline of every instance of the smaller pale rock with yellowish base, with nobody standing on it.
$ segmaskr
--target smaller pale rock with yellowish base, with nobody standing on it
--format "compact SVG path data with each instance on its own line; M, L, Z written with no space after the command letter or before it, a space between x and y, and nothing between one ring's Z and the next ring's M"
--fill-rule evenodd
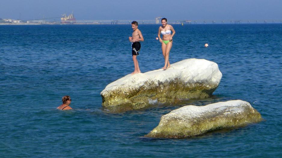
M147 137L184 138L208 131L242 127L262 121L259 112L242 100L219 102L206 106L183 106L161 117Z

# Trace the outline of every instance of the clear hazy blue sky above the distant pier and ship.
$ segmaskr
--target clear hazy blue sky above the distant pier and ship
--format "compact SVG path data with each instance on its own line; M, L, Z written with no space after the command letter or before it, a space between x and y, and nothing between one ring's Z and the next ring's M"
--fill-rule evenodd
M0 0L0 18L78 20L281 19L282 0Z

